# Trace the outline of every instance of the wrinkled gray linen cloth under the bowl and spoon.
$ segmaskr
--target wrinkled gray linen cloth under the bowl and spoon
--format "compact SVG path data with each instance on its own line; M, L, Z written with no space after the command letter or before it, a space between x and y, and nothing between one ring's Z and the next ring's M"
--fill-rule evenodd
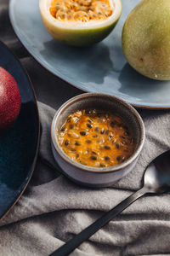
M170 147L170 111L140 110L146 141L137 166L111 188L88 189L60 174L50 148L54 108L82 93L43 69L15 37L0 1L0 39L20 58L38 98L42 137L26 192L0 223L0 255L48 255L142 184L144 168ZM40 103L41 102L41 103ZM170 255L170 195L144 196L71 255Z

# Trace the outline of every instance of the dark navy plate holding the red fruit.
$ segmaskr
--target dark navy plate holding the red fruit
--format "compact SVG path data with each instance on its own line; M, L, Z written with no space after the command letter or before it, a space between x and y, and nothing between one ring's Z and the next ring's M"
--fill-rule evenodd
M26 189L37 160L39 116L36 97L25 70L0 42L0 67L14 76L21 95L18 119L0 133L0 218L14 206Z

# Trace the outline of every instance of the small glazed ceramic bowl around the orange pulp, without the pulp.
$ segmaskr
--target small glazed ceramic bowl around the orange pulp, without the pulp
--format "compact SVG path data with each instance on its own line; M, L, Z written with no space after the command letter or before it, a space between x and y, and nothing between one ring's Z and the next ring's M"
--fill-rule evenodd
M94 168L83 166L71 160L60 148L57 132L64 124L65 119L80 109L96 108L106 112L113 112L122 117L133 133L135 148L132 156L117 166L107 168ZM106 187L124 177L135 166L144 145L144 123L139 113L127 102L116 96L100 93L85 93L71 98L65 102L55 113L51 127L51 141L54 159L63 173L71 180L89 187Z

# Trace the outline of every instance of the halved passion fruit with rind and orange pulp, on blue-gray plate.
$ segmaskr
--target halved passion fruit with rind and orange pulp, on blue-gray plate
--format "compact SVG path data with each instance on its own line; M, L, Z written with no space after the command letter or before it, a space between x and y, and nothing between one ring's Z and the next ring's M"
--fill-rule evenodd
M39 6L52 37L75 46L107 37L122 14L121 0L40 0Z

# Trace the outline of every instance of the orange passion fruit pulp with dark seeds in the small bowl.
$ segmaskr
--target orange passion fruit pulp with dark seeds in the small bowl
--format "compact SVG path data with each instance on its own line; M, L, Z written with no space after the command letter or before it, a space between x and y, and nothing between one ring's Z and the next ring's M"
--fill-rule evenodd
M134 149L133 136L124 121L112 113L85 110L71 114L62 125L59 145L82 165L109 167L127 160Z

